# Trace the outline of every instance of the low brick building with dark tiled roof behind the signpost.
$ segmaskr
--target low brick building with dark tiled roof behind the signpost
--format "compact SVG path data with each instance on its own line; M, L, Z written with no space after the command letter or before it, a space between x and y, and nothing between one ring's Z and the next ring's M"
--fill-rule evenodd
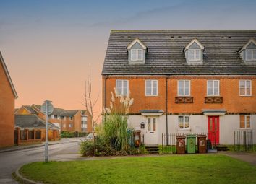
M39 118L35 112L15 115L15 133L17 133L17 145L45 141L46 121ZM59 140L59 128L53 123L48 123L48 140Z

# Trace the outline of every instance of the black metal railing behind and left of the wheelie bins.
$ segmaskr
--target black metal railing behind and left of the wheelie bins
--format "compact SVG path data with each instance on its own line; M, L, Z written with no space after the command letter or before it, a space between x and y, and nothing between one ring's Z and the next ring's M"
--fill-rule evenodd
M208 136L208 133L162 133L162 153L176 153L176 136L187 136L187 135L205 135ZM185 144L187 145L187 139L185 139ZM196 139L197 144L197 139Z

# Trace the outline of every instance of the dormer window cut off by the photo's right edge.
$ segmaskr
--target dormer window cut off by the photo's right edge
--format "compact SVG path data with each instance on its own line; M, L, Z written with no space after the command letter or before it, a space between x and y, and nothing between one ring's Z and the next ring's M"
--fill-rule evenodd
M250 39L247 44L244 45L239 51L240 56L245 63L256 63L256 42L254 39Z

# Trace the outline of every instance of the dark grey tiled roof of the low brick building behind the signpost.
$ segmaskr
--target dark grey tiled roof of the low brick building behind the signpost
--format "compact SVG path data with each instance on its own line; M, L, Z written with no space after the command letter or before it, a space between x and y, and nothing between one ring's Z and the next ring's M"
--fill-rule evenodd
M37 115L15 115L15 126L21 128L46 128L46 122ZM59 129L53 123L48 123L49 129Z

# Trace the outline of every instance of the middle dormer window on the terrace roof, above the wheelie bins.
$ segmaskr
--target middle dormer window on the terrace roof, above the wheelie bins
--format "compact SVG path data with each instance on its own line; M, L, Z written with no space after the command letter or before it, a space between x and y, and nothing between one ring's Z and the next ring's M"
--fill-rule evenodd
M184 48L184 54L188 64L202 64L202 51L204 46L197 40L192 40L189 45Z

